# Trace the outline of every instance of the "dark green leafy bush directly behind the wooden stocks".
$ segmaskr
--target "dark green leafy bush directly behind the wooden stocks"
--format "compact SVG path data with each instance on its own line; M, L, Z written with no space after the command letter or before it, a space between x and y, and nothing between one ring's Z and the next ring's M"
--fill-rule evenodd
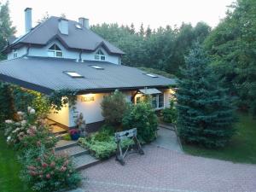
M125 113L123 125L126 129L137 128L138 138L146 143L155 139L157 117L148 102L132 105Z

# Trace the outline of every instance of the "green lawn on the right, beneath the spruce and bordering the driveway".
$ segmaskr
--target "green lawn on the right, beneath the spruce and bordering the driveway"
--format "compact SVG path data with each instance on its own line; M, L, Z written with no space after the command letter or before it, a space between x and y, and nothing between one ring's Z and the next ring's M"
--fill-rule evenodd
M183 150L196 156L256 164L256 120L246 113L238 113L237 116L237 134L226 147L209 149L183 144Z

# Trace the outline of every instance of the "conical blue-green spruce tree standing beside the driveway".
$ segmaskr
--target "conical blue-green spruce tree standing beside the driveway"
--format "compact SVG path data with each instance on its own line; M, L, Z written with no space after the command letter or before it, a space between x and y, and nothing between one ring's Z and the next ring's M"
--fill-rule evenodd
M234 110L227 90L220 86L207 63L198 45L186 58L177 89L179 135L186 143L224 147L235 133Z

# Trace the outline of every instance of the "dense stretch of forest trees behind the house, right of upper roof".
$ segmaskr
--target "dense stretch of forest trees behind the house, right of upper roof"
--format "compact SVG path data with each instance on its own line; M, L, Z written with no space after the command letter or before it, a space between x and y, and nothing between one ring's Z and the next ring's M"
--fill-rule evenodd
M143 24L140 31L135 32L131 26L106 24L91 26L91 30L125 51L122 62L131 67L155 68L166 73L179 74L179 67L184 65L184 55L187 55L191 45L196 41L203 42L211 28L205 23L195 27L184 24L172 29L159 27L146 32Z

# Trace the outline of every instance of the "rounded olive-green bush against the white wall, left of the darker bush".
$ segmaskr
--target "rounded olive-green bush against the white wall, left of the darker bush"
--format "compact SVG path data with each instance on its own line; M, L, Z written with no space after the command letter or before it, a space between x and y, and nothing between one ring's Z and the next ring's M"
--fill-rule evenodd
M110 96L104 96L101 105L105 121L111 125L120 125L127 109L125 95L115 90Z

